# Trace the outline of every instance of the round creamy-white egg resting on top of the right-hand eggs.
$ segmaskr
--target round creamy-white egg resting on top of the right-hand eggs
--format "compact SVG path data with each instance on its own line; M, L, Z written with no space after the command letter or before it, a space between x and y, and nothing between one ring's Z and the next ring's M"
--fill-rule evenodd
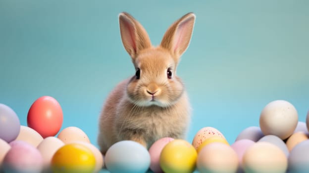
M285 100L268 103L259 117L259 126L263 134L273 134L283 140L293 134L297 123L297 110Z

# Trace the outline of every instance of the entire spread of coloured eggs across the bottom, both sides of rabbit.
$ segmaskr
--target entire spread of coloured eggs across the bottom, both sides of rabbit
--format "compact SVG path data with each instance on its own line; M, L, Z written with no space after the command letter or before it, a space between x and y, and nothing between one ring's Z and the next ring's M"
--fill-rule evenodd
M299 122L284 100L268 103L259 127L241 131L234 143L213 127L199 130L192 143L164 137L147 150L124 140L113 144L104 160L87 134L77 127L59 132L63 115L50 96L31 106L26 126L0 104L0 172L3 173L305 173L309 170L309 112ZM58 133L59 132L59 133ZM57 137L55 135L58 133ZM125 153L125 154L124 154Z

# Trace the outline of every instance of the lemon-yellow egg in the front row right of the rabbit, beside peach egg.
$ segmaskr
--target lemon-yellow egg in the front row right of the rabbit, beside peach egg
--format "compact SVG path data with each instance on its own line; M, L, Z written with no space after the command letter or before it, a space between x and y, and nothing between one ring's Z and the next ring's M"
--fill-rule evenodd
M192 173L196 160L196 149L185 140L175 139L161 151L160 166L164 173Z

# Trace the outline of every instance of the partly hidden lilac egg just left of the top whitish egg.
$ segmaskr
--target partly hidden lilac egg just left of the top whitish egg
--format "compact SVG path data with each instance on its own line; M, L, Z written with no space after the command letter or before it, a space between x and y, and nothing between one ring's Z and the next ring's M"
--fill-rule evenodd
M257 142L263 136L264 134L262 133L259 127L251 126L241 131L238 134L236 141L241 140L241 139L250 139L254 142Z

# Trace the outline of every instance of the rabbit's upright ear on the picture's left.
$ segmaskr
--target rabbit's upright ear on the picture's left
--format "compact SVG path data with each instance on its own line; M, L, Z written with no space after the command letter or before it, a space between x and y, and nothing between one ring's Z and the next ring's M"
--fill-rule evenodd
M119 14L119 26L123 46L133 60L141 50L152 46L146 30L129 13Z

